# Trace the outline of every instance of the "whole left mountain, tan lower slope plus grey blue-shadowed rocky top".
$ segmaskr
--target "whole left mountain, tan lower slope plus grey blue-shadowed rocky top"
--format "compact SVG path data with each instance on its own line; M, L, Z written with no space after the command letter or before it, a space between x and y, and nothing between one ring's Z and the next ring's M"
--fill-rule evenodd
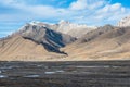
M0 41L0 60L38 60L66 55L61 47L75 41L76 38L49 29L48 27L26 24L21 30Z

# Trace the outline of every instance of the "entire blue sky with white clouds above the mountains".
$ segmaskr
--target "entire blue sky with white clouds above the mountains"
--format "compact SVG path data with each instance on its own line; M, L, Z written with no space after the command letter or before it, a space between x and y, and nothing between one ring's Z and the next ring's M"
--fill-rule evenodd
M31 21L61 20L88 26L116 25L130 15L130 0L0 0L0 37Z

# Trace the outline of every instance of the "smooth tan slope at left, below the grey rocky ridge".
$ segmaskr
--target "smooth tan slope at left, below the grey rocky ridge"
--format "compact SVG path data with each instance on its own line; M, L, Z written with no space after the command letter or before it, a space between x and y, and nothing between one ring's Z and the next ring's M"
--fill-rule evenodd
M3 61L38 61L60 55L47 51L42 45L38 45L29 39L24 39L22 36L5 39L1 41L1 45L0 60Z

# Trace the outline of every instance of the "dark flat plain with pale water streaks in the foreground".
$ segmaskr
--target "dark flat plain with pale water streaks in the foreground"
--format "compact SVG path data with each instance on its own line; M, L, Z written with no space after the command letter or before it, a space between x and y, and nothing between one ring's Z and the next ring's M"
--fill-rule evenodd
M0 87L130 87L130 61L0 62Z

